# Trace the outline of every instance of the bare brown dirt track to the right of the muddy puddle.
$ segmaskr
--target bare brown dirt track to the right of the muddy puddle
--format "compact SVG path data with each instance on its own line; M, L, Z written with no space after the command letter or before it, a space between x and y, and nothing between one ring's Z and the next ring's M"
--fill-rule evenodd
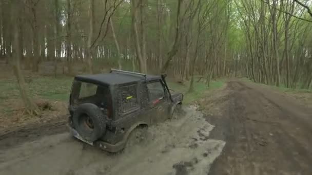
M230 81L210 138L226 141L209 174L312 174L312 113L251 83Z

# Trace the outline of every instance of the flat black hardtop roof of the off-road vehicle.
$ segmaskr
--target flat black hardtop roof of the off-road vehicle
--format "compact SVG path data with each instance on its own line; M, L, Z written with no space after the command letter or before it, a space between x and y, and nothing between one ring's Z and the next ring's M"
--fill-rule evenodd
M159 80L159 75L147 75L135 72L111 70L110 73L106 74L92 74L92 75L77 75L75 80L101 84L101 85L116 85L116 84L127 84L138 81L152 81Z

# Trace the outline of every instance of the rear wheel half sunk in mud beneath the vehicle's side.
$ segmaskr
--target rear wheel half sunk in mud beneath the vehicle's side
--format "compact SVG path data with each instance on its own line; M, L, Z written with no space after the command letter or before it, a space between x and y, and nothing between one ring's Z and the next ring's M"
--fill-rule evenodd
M147 127L136 127L133 129L128 136L127 143L125 148L129 149L131 147L135 147L141 144L145 144L148 138Z

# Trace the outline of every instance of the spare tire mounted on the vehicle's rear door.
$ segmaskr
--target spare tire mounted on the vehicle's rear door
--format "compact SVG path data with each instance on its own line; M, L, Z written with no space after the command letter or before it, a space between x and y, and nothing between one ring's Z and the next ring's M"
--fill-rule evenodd
M105 115L95 104L79 105L73 113L72 122L79 135L89 142L96 141L105 133Z

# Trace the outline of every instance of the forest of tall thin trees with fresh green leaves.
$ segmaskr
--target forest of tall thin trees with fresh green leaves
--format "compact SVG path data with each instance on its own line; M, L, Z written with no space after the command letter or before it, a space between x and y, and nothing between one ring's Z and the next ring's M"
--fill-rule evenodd
M117 68L181 83L223 77L312 89L308 0L1 0L0 60L26 108L24 72ZM48 71L49 70L49 71Z

